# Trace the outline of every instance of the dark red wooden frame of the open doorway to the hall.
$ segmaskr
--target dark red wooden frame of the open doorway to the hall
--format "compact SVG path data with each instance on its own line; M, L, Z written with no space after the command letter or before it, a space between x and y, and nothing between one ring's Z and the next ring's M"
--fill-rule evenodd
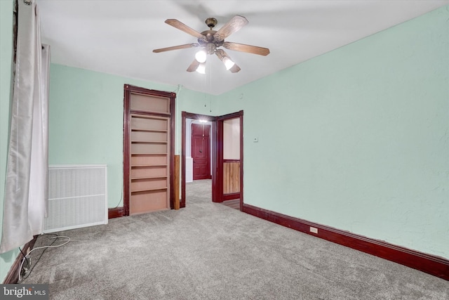
M212 122L212 201L223 202L223 121L240 119L240 210L243 209L243 110L218 117L200 115L192 112L181 112L181 199L180 207L185 207L185 152L186 152L186 119L205 119Z

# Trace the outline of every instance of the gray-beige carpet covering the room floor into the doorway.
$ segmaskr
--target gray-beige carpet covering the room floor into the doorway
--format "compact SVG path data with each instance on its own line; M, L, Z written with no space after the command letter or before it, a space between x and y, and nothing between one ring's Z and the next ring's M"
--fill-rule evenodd
M50 299L449 299L448 281L213 203L210 181L185 209L59 234L25 280Z

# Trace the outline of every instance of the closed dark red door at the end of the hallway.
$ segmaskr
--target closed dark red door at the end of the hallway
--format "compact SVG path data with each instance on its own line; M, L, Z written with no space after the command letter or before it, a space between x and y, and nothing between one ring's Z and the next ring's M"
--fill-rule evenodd
M210 179L210 125L192 124L194 180Z

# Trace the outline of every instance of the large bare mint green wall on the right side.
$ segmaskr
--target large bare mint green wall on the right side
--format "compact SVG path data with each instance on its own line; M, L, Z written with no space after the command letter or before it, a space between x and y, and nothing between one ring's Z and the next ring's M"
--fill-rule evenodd
M218 96L220 114L244 110L244 201L449 258L448 20L445 6Z

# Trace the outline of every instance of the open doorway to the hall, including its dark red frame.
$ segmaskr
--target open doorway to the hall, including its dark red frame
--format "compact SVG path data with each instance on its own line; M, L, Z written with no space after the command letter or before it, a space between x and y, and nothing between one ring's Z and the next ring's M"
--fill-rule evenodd
M210 129L201 124L210 125ZM197 134L194 133L192 136L192 131L196 131ZM206 138L206 132L208 132L210 143ZM194 181L194 168L197 168L199 169L197 172L201 174L197 177L198 179L207 176L212 179L211 199L213 202L238 201L233 205L239 204L241 210L243 207L243 111L217 117L182 112L181 140L180 207L186 206L186 183ZM208 150L206 144L210 144ZM192 151L197 153L192 154ZM209 151L210 159L204 158L205 151ZM202 161L194 162L196 154ZM207 162L210 164L209 167ZM208 171L205 171L206 169L210 169L210 175Z

